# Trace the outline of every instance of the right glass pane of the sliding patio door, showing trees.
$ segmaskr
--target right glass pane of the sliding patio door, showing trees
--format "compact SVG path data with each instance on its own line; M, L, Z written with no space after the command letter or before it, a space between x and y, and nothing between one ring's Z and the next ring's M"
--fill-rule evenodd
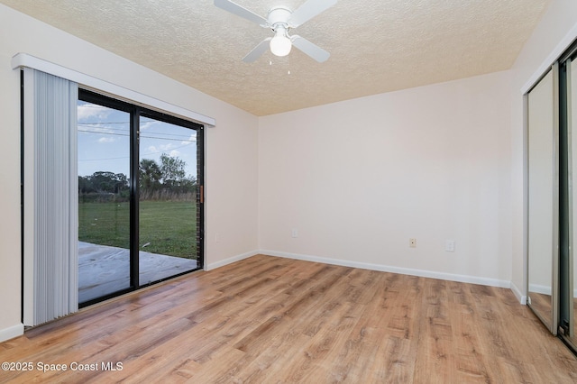
M141 116L139 282L198 268L197 131Z

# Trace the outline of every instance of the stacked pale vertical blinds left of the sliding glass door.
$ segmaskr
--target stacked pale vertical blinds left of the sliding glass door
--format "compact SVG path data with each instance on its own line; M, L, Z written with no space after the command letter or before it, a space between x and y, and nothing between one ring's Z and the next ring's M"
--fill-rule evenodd
M78 85L24 69L24 325L78 311Z

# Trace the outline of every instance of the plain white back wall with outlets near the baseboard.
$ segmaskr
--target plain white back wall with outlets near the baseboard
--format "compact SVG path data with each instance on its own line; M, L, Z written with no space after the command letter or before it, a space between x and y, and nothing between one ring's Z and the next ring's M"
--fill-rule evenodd
M505 71L261 117L261 251L508 286L509 89Z

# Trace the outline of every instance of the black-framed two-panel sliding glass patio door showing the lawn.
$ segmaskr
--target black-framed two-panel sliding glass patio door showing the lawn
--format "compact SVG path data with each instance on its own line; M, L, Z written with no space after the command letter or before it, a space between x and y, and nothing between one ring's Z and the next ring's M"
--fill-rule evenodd
M201 268L203 127L78 99L80 306Z

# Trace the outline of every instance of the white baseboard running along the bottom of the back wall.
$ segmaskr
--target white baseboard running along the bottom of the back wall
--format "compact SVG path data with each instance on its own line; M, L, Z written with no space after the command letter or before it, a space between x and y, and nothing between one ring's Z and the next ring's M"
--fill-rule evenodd
M372 264L367 262L344 261L338 259L330 259L325 257L303 255L289 252L260 250L258 251L258 253L270 256L283 257L287 259L324 262L325 264L340 265L343 267L361 268L363 270L380 270L383 272L392 272L392 273L399 273L402 275L419 276L422 278L459 281L462 283L480 284L483 286L490 286L490 287L511 288L511 282L508 280L480 278L477 276L457 275L453 273L435 272L431 270L413 270L410 268L390 267L388 265Z

